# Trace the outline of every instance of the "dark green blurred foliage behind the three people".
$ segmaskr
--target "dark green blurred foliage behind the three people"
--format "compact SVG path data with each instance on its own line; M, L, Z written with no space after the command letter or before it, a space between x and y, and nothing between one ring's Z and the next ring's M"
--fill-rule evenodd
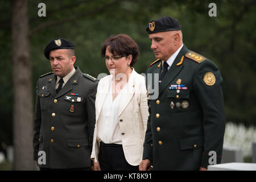
M40 2L46 3L46 17L38 16ZM208 57L220 68L224 79L226 120L255 125L255 3L245 0L214 1L217 17L209 17L210 2L29 0L34 94L39 76L51 71L43 51L53 38L71 40L76 46L76 65L82 72L97 77L99 73L108 73L100 55L101 44L110 35L128 34L139 45L141 56L135 69L143 73L155 60L145 31L147 23L160 16L173 16L182 26L184 44L192 51ZM0 142L5 141L9 145L12 142L13 114L10 2L1 1L0 8ZM45 26L39 28L42 24Z

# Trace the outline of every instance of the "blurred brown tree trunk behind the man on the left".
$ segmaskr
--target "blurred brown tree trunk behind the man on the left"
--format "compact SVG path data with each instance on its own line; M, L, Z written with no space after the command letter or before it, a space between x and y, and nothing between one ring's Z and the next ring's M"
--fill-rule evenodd
M32 64L28 38L27 0L12 1L12 47L14 90L14 170L33 170Z

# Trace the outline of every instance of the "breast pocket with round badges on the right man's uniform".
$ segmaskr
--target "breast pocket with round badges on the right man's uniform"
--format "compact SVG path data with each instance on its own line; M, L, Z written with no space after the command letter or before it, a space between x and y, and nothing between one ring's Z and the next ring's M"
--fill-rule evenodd
M168 90L167 98L170 100L170 109L185 111L189 109L189 90Z

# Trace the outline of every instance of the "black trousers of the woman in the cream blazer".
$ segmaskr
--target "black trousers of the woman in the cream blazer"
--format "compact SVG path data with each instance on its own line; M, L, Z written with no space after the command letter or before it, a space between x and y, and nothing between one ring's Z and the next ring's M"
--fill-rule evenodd
M100 142L98 162L101 171L138 171L139 166L131 166L125 159L121 144Z

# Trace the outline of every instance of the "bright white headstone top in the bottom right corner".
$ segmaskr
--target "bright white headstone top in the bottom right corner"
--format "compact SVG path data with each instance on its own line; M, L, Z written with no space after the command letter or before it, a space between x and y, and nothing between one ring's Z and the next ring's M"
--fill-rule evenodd
M253 163L225 163L208 166L208 171L256 171Z

